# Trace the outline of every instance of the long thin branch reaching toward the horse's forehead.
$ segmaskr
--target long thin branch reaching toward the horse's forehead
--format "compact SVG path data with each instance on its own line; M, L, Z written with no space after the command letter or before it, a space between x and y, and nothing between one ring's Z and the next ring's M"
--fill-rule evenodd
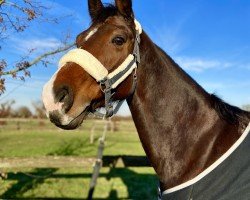
M27 70L31 66L36 65L37 63L39 63L42 59L47 58L48 56L55 55L57 53L61 53L61 52L67 51L70 48L72 48L74 45L75 44L69 44L67 46L58 48L58 49L56 49L54 51L50 51L50 52L44 53L44 54L38 56L37 58L35 58L34 60L32 60L30 62L25 62L25 65L23 65L22 67L15 67L13 70L5 71L5 72L0 72L0 76L13 75L13 74L16 74L16 73L18 73L20 71Z

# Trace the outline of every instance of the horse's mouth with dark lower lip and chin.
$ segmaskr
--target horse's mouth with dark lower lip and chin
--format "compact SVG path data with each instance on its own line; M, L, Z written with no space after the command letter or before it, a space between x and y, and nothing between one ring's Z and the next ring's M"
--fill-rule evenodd
M64 129L64 130L74 130L76 128L78 128L84 119L87 118L88 114L90 113L90 106L87 106L82 112L81 114L79 114L77 117L75 117L74 119L72 119L69 124L67 125L62 125L60 123L55 123L53 122L57 127Z

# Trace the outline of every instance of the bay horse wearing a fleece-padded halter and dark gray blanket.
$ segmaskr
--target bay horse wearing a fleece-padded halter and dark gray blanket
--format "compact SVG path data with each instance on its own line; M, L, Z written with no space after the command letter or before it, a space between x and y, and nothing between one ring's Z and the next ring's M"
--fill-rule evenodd
M44 86L49 119L77 128L126 99L160 199L249 199L250 113L207 93L135 20L131 0L88 0L91 26Z

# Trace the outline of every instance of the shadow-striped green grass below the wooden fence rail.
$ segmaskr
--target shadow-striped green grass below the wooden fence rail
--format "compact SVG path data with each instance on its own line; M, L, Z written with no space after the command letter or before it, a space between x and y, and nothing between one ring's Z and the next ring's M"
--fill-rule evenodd
M7 180L0 181L0 197L82 199L87 197L91 168L37 169L32 172L33 175L41 177L9 173ZM156 185L154 172L149 168L102 168L94 198L155 199Z

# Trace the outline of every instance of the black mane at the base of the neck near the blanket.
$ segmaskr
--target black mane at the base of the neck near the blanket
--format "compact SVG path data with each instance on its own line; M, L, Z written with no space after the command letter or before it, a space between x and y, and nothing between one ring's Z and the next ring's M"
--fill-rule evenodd
M240 122L248 123L250 112L244 111L236 106L225 103L215 94L211 94L211 105L219 116L230 124L239 125Z

